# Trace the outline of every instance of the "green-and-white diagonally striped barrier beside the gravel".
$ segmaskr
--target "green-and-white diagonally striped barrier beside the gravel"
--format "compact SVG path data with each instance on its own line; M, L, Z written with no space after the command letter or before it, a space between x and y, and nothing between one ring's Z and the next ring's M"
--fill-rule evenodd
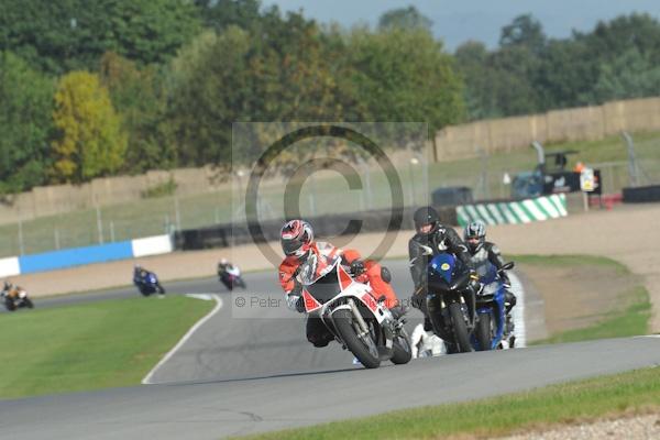
M483 202L457 207L460 226L481 220L486 224L529 223L566 217L566 196L556 194L517 201Z

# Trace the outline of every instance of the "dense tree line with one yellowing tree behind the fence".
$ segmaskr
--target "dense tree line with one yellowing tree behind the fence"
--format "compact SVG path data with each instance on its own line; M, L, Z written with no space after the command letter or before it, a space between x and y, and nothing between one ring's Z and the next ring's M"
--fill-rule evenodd
M549 40L529 15L454 54L414 7L350 30L258 0L4 0L0 193L229 166L232 122L424 121L431 131L657 94L648 15Z

